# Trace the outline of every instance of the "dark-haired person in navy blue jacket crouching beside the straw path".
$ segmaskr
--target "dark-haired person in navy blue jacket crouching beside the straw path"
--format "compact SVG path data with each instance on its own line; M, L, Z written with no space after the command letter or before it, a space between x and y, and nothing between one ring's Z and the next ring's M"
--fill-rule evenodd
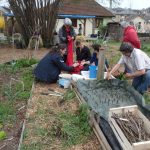
M41 59L35 68L35 78L38 81L55 83L62 70L72 72L74 67L78 66L78 63L75 63L70 67L67 66L63 60L63 55L66 54L66 51L66 44L54 46L52 50Z

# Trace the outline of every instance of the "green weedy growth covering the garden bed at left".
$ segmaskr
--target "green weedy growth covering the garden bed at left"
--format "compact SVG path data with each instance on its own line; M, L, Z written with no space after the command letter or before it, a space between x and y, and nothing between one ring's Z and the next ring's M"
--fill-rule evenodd
M19 101L25 101L24 103L26 103L30 97L34 80L31 65L34 63L36 63L34 60L21 59L15 63L0 65L0 75L7 79L1 87L1 96L3 99L0 101L0 124L4 126L4 129L9 125L11 125L10 128L13 128L17 117L16 111L18 110L16 104ZM12 80L12 78L15 80Z

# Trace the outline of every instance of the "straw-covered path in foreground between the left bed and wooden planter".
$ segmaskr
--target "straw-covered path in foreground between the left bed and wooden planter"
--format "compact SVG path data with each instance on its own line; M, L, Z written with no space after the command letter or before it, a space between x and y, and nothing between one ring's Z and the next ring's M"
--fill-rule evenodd
M48 92L49 88L61 93L66 92L65 89L60 88L57 84L35 84L33 96L27 110L25 138L23 139L22 150L26 150L29 147L43 150L100 150L100 144L94 133L90 137L87 137L88 140L86 143L66 148L64 148L64 143L59 136L51 136L51 128L55 126L57 114L76 112L79 108L79 102L76 97L71 102L63 102L61 97L40 94Z

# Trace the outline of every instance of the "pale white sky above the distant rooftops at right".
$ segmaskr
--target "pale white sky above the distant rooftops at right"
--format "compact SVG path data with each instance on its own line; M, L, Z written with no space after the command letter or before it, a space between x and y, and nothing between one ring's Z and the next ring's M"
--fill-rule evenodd
M102 0L98 0L99 2ZM131 9L143 9L150 7L150 0L120 0L121 4L115 7L131 8ZM100 2L101 3L101 2ZM104 6L109 7L109 4L105 3Z

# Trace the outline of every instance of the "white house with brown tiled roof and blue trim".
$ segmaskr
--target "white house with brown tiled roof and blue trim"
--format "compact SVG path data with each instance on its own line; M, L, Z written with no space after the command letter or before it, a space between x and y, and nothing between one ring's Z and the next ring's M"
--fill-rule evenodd
M64 18L70 18L77 34L90 36L97 34L100 26L105 26L114 15L95 0L64 0L56 25L56 31L63 25ZM79 28L81 29L79 31Z

